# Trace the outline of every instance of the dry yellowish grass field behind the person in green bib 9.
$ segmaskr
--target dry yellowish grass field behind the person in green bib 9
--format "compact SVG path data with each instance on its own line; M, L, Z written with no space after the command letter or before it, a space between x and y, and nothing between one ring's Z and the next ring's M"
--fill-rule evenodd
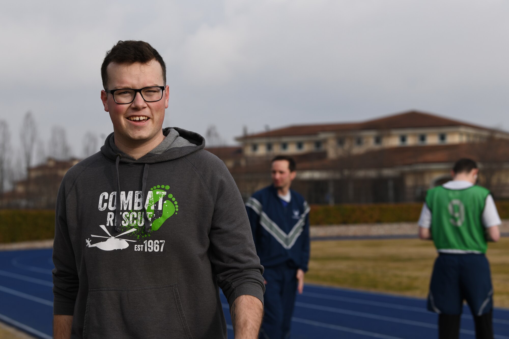
M495 307L509 307L509 238L490 243ZM437 252L419 239L313 241L307 283L426 297Z

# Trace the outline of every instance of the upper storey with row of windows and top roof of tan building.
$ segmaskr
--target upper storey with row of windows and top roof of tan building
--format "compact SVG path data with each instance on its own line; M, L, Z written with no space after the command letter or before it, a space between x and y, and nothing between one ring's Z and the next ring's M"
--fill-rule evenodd
M418 111L360 123L296 125L238 137L246 157L327 152L327 158L408 146L457 145L490 136L509 139L496 131Z

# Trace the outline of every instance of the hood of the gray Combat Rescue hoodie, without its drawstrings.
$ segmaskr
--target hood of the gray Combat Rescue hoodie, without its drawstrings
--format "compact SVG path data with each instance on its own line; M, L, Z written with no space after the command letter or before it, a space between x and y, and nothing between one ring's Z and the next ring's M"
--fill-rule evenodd
M112 161L117 161L120 155L120 162L124 163L156 163L181 158L205 147L205 138L195 132L178 127L166 127L162 133L165 138L161 144L139 159L134 159L118 149L114 133L106 137L101 153Z

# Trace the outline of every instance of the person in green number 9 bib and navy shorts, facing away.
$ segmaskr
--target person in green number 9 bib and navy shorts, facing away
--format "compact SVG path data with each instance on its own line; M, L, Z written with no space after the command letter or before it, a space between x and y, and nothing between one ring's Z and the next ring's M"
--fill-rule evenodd
M501 223L490 191L475 185L475 161L460 159L453 180L428 191L419 218L419 237L438 250L428 309L438 314L440 339L457 339L463 301L474 318L477 339L493 339L493 286L485 256L487 241L500 239Z

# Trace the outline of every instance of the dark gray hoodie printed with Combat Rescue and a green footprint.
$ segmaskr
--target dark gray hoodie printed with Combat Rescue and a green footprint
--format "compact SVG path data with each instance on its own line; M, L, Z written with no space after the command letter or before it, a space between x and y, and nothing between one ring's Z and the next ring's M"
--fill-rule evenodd
M263 301L263 267L228 169L201 135L163 133L137 160L111 133L62 181L53 313L74 315L72 338L225 338L219 288L230 305L245 294Z

